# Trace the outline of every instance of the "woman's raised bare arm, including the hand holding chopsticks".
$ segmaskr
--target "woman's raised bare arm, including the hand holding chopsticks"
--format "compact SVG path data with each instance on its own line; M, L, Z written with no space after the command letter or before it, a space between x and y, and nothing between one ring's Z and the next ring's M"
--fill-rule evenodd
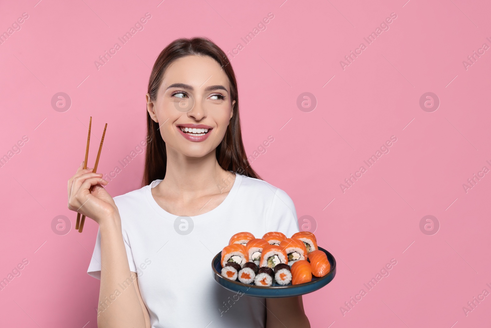
M92 169L82 169L68 180L68 208L92 218L101 233L101 288L97 325L100 328L149 328L136 274L130 272L121 231L121 218L103 188L108 182ZM92 189L92 191L91 191Z

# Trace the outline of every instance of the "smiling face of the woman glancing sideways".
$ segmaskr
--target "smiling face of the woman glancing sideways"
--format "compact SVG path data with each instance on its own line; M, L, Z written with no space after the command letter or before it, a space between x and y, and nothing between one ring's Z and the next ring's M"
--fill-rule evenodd
M202 157L220 144L232 118L227 75L217 61L187 56L164 72L155 102L147 93L150 117L159 123L166 148Z

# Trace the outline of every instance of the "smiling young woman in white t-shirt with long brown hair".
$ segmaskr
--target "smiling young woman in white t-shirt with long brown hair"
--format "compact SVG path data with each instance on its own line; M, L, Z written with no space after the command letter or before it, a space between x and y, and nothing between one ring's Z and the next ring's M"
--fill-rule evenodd
M98 326L310 327L301 297L247 297L212 276L233 234L298 231L290 197L247 162L226 55L206 38L173 41L146 102L146 186L112 199L83 165L68 180L68 208L99 224L87 271L101 280Z

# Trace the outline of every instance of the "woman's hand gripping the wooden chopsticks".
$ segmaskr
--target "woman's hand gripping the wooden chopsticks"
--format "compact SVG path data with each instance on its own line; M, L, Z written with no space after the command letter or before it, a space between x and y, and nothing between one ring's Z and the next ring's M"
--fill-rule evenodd
M82 162L77 173L68 180L68 209L90 217L101 225L119 213L114 200L103 187L109 182L102 179L102 174L92 173L92 170L84 170Z

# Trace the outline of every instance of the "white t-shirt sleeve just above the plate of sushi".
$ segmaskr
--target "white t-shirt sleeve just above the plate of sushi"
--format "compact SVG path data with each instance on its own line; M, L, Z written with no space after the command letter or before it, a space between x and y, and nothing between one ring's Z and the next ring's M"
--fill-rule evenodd
M288 238L299 232L295 205L290 196L281 189L276 189L274 193L266 231L279 231Z

